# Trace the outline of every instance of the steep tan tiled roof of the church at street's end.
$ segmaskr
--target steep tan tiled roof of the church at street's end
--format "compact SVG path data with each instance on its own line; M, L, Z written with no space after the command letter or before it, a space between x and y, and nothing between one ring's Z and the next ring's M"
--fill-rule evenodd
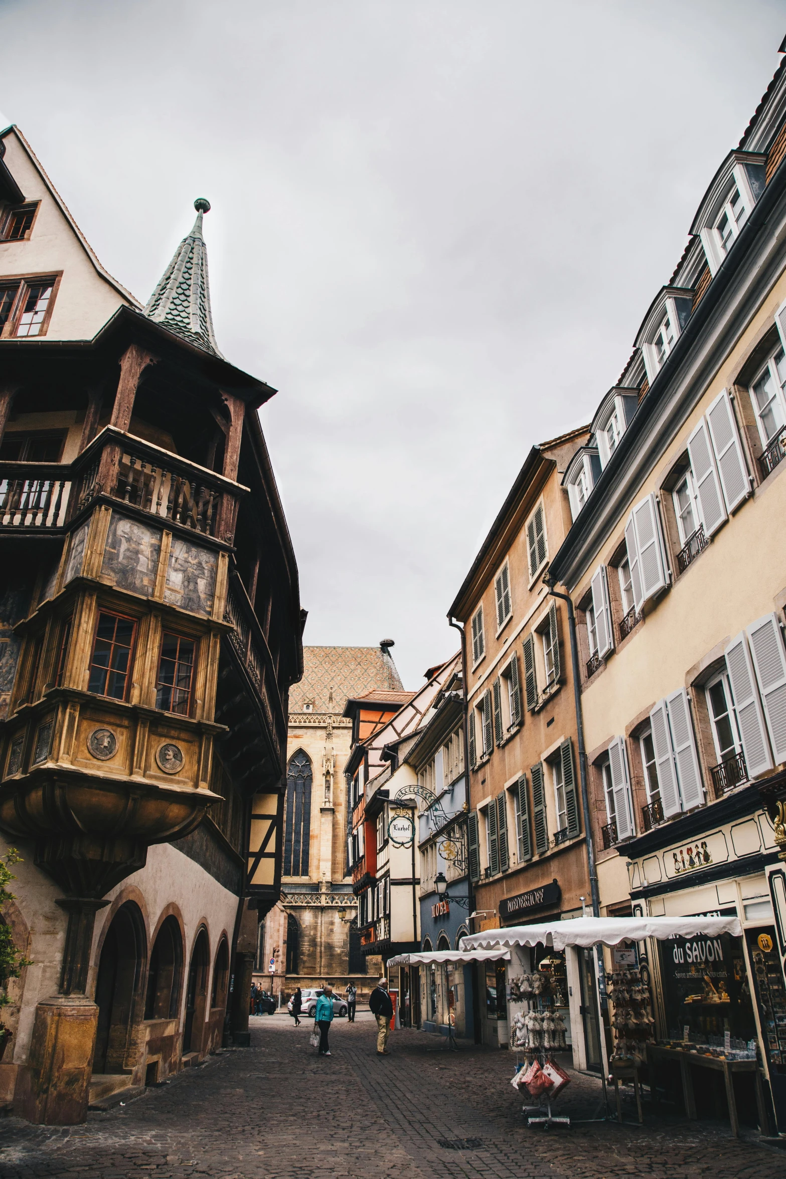
M290 689L290 712L302 712L311 702L315 712L341 716L350 697L375 691L401 693L402 704L411 694L404 692L395 663L379 647L303 647L303 679Z

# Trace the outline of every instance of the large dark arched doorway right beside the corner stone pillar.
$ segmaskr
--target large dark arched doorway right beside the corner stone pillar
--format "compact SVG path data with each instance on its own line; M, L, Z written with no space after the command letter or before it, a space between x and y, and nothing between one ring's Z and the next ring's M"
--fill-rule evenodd
M126 901L106 931L98 963L94 1073L123 1073L130 1059L133 1025L144 1013L141 980L146 957L145 924L139 905Z

